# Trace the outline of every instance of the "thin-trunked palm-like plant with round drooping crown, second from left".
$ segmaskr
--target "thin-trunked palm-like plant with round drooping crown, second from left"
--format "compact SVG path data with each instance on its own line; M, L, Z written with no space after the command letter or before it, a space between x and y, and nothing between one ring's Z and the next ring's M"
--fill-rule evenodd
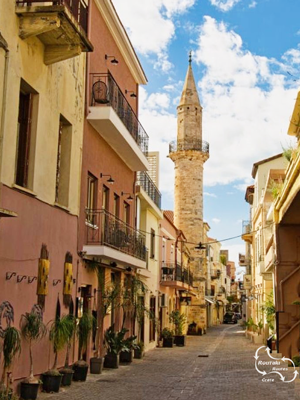
M21 315L20 330L22 337L29 345L30 373L25 382L38 383L38 380L33 375L32 346L34 342L41 340L47 333L47 328L42 320L42 314L33 310L30 313Z

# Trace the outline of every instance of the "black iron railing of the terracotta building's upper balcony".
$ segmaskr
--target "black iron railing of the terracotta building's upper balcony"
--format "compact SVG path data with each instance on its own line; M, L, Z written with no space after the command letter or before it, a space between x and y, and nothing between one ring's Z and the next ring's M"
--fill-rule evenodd
M111 74L91 74L91 105L111 106L145 156L148 155L149 137Z

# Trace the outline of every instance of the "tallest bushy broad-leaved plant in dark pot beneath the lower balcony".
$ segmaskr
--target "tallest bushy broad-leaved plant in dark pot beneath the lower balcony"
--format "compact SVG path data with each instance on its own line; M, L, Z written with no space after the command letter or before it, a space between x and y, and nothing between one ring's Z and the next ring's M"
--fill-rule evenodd
M104 334L105 345L107 348L107 354L104 357L105 368L119 368L119 354L122 350L128 351L124 343L124 336L128 332L128 329L121 329L120 332L114 331L114 326L110 326Z

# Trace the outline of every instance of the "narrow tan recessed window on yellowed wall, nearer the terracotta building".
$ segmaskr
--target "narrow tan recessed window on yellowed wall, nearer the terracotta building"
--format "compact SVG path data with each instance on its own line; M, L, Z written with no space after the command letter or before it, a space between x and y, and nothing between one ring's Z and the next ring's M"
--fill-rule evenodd
M55 202L68 207L71 168L72 125L61 115L58 129Z

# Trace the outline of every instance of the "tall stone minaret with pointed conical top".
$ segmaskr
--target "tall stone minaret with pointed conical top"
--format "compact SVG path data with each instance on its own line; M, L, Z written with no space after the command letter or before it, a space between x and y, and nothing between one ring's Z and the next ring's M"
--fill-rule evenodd
M202 107L191 64L190 53L181 100L177 107L177 141L170 144L169 157L175 164L174 223L184 232L188 242L199 243L203 242L203 164L209 157L209 146L202 141ZM204 251L195 250L195 244L189 245L189 248L194 287L198 288L197 303L203 304L204 293L201 288L204 287ZM194 317L195 321L199 321L199 316Z

